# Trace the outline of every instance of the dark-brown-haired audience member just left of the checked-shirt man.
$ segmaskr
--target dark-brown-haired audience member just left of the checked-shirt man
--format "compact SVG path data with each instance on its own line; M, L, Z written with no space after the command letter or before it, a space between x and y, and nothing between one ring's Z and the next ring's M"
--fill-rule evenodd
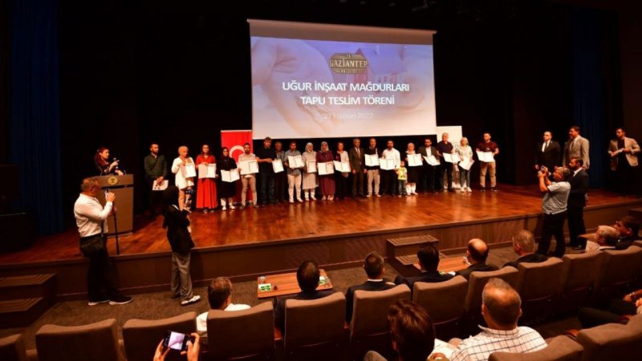
M426 361L435 348L435 328L422 306L402 299L388 309L392 348L399 355L399 361ZM386 359L369 351L364 361L385 361Z

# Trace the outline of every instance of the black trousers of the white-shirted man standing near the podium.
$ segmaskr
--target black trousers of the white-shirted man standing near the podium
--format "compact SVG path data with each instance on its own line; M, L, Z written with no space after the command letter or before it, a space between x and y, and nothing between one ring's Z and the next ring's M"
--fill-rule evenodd
M107 254L107 249L89 257L87 294L89 301L98 301L105 297L111 298L119 294L116 288L114 265Z

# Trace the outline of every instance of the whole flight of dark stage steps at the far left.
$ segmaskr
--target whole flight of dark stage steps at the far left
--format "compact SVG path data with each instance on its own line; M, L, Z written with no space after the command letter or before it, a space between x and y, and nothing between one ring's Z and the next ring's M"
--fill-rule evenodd
M0 277L1 328L29 326L55 303L55 274Z

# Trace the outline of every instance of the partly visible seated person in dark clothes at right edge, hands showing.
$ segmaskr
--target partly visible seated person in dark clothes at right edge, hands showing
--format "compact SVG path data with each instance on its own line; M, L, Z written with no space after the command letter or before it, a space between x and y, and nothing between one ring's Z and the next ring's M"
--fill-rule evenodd
M625 295L622 299L612 299L609 308L583 307L577 314L582 328L591 328L607 323L621 322L627 315L642 315L642 290Z

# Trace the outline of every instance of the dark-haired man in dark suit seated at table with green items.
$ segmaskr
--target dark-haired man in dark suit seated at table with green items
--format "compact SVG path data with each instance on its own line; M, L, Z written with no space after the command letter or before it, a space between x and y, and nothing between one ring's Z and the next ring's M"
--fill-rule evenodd
M317 291L321 272L315 261L304 261L297 269L297 283L301 292L292 296L274 299L274 321L285 331L285 301L288 299L320 299L334 293L333 290Z

